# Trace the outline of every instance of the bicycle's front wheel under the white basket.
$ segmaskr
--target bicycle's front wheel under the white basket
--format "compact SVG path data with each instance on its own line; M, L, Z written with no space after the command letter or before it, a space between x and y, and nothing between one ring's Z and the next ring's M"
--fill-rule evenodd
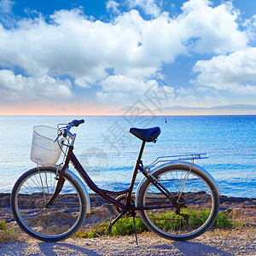
M84 192L67 173L60 195L45 207L55 192L56 171L54 167L27 171L17 180L11 195L11 208L21 230L41 241L61 241L72 236L85 218Z

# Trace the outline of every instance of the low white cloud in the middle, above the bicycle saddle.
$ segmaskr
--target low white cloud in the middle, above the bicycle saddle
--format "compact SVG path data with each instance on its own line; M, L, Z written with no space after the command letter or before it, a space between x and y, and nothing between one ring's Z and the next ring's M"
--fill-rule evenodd
M131 79L113 75L102 81L101 85L103 90L96 93L96 99L108 107L137 103L144 104L141 107L148 109L163 108L177 97L173 87L155 79Z

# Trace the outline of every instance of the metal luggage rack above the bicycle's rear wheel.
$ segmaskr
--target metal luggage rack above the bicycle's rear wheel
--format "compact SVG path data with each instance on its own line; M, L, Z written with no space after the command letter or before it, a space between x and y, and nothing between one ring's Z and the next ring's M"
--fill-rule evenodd
M208 154L182 154L182 155L170 155L170 156L160 156L154 162L152 162L149 166L146 166L145 169L150 170L153 166L156 166L162 162L171 162L171 161L181 161L181 160L197 160L197 159L206 159L208 158Z

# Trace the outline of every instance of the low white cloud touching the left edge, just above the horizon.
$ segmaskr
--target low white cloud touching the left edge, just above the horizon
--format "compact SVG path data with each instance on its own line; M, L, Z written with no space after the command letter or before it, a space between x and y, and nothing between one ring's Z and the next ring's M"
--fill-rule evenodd
M0 98L2 100L63 100L70 98L69 80L53 79L49 76L32 78L15 75L10 70L0 70Z

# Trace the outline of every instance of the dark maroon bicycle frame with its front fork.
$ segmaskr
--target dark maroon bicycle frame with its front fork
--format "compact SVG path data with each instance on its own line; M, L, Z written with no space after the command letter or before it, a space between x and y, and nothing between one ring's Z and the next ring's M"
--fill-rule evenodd
M143 155L144 146L145 146L145 142L143 141L142 146L140 148L140 152L139 152L138 157L137 157L137 164L134 168L134 172L133 172L133 175L132 175L132 178L131 178L130 187L128 189L121 190L121 191L109 191L109 190L106 190L106 189L100 189L98 186L96 186L96 183L94 183L90 179L89 175L84 171L83 166L81 166L81 164L79 163L79 160L76 158L75 154L73 154L73 144L72 144L68 148L67 158L65 160L65 164L61 168L60 176L58 178L58 183L57 183L56 188L55 188L55 193L50 198L46 207L49 207L53 203L53 201L55 200L57 195L59 195L59 193L61 192L62 186L65 182L65 180L63 178L63 175L64 175L64 172L66 171L70 161L73 163L73 166L79 172L80 176L83 177L84 182L87 183L87 185L90 187L91 190L96 192L96 194L102 196L102 198L109 201L113 205L115 205L117 207L120 207L122 209L126 209L126 211L139 211L139 210L146 210L146 209L148 210L148 209L160 209L160 208L175 207L176 203L174 202L174 200L172 200L173 196L170 194L170 192L168 192L164 187L162 187L160 183L157 183L157 180L154 177L151 177L150 175L148 175L149 172L147 172L147 168L143 168L143 166L141 165L141 159L142 159L142 155ZM156 206L152 206L152 207L133 207L133 206L129 205L129 202L131 200L132 189L134 188L134 184L135 184L135 181L136 181L138 171L142 172L144 177L147 178L150 183L153 183L154 186L157 189L159 189L159 191L163 195L166 196L166 199L170 200L172 203L168 204L168 205L165 205L165 206L158 206L158 207L156 207ZM127 195L125 204L121 203L120 201L115 200L112 196L110 196L110 195L125 195L125 194Z

